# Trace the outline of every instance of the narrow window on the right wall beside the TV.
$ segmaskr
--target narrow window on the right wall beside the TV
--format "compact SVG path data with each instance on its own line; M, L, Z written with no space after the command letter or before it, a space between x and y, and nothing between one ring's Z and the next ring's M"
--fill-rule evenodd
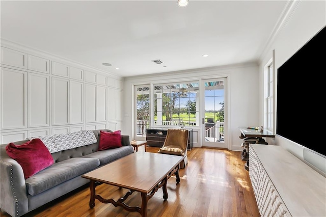
M273 77L273 59L271 59L265 66L265 128L270 131L273 131L274 129Z

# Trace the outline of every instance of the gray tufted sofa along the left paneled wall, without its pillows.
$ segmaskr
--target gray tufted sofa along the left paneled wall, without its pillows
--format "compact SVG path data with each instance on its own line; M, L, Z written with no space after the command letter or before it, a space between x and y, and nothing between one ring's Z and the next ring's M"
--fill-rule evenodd
M103 131L112 132L108 129ZM133 153L129 135L122 135L122 147L98 150L100 130L93 130L97 143L51 153L55 163L28 179L18 162L0 145L0 207L11 216L21 216L72 190L89 179L81 176L91 170ZM28 140L14 142L21 145Z

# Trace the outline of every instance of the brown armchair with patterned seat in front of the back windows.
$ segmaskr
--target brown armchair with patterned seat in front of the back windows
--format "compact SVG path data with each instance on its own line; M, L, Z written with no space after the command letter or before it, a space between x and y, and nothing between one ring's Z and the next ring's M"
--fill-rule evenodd
M187 129L168 129L164 145L158 150L158 153L184 156L180 164L180 168L184 168L188 162L188 137Z

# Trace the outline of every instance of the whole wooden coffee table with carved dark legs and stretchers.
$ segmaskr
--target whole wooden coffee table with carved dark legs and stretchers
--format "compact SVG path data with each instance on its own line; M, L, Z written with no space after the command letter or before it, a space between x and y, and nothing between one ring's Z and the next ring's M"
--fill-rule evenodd
M162 187L163 198L167 200L168 179L175 174L177 183L180 182L179 168L183 158L169 154L135 152L82 175L83 178L90 179L90 207L95 206L95 199L97 199L102 203L112 203L115 207L121 206L127 211L139 212L142 216L147 216L147 202L158 188ZM148 165L150 167L147 167ZM130 191L117 201L104 199L95 193L95 187L102 183L127 188ZM133 192L141 193L141 207L130 207L124 202Z

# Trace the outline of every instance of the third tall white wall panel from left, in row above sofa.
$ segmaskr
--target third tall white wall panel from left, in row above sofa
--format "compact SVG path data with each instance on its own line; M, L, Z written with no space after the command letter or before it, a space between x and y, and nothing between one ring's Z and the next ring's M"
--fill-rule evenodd
M69 80L52 77L52 125L69 124Z

